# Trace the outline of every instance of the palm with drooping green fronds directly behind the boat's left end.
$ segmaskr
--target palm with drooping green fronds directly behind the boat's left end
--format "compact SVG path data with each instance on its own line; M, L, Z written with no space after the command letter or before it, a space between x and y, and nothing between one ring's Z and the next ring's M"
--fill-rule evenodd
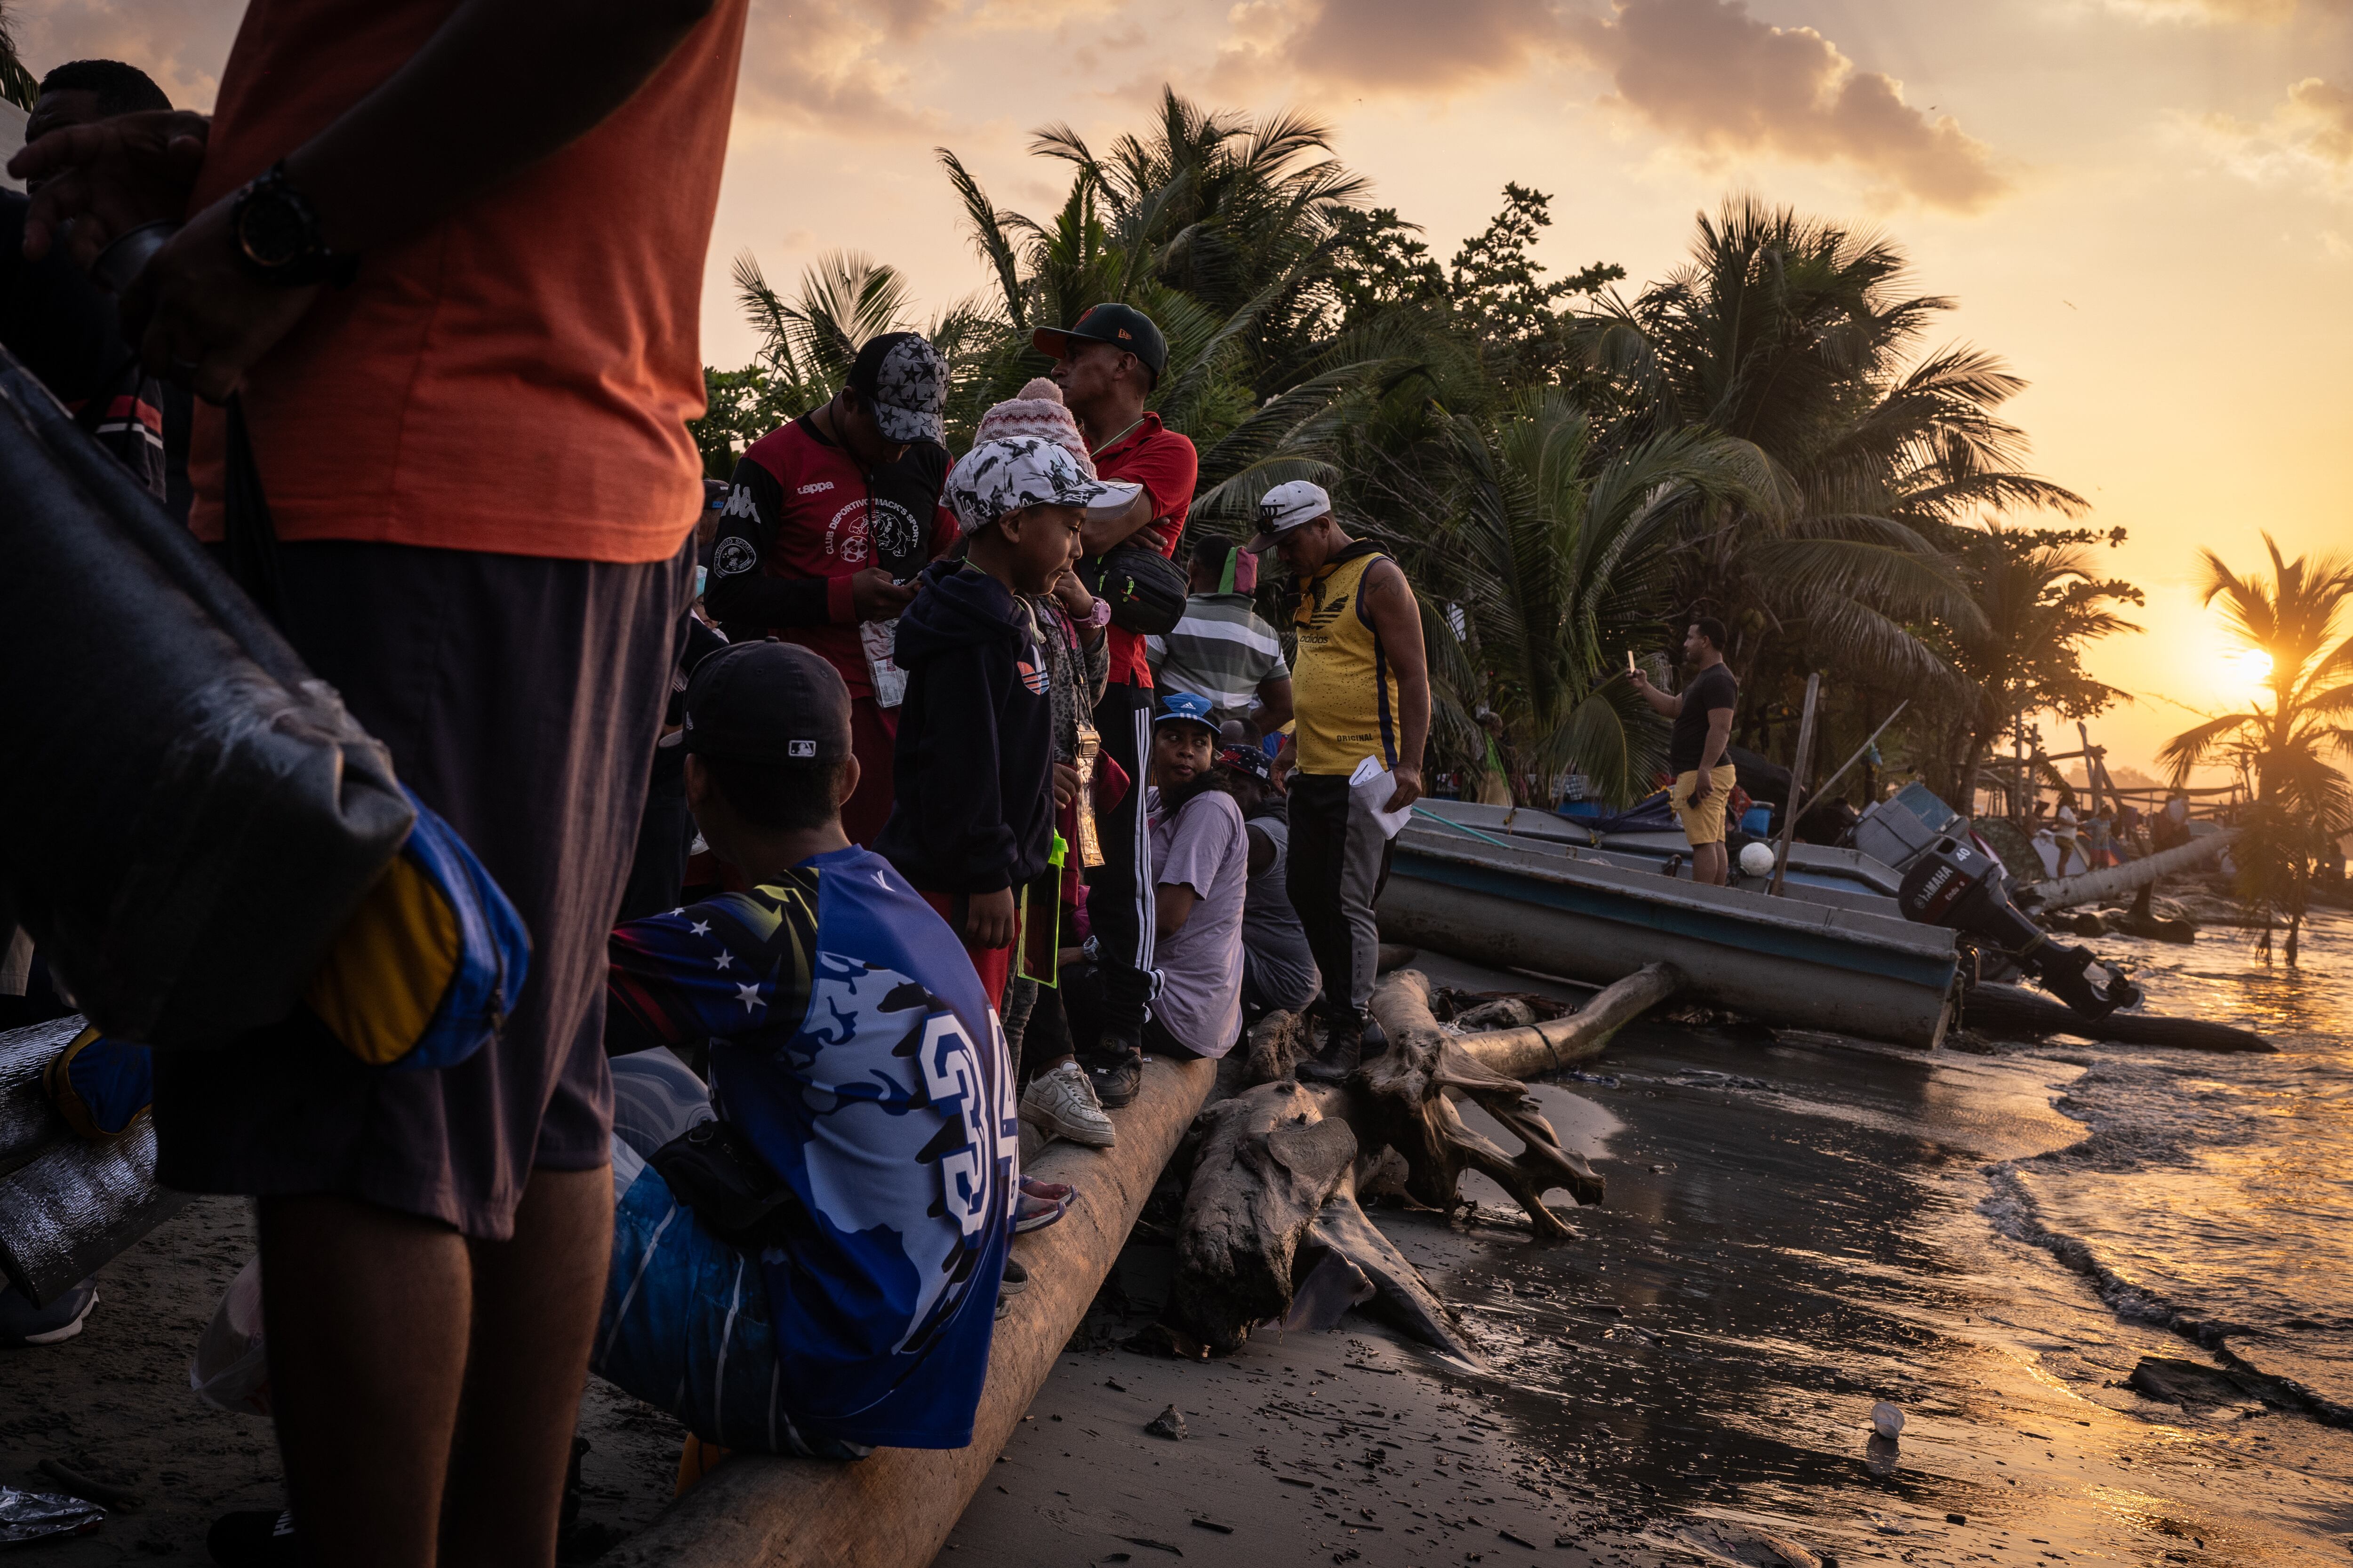
M1388 468L1381 508L1428 529L1372 524L1421 590L1440 755L1478 755L1485 705L1539 778L1574 766L1614 802L1647 790L1666 731L1614 670L1657 625L1673 520L1769 482L1753 444L1706 430L1612 451L1560 388L1494 421L1445 416L1426 461Z

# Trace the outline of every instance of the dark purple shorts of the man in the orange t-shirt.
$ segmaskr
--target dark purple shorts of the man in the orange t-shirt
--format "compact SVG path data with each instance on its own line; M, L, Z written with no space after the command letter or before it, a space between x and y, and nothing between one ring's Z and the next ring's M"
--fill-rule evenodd
M287 632L532 933L504 1034L442 1072L365 1067L306 1011L155 1053L158 1175L334 1192L504 1241L534 1166L609 1157L605 933L628 879L694 555L609 562L280 545Z

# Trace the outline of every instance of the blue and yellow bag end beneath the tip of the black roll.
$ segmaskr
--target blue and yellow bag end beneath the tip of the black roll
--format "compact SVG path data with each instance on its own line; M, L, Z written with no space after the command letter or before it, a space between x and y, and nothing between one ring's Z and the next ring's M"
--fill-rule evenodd
M416 827L360 900L304 1001L374 1067L456 1067L515 1011L532 936L449 823Z

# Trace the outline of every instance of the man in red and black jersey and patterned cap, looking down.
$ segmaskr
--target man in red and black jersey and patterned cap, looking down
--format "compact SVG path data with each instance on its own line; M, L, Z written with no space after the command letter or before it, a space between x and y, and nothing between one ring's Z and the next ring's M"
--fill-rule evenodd
M736 461L704 604L732 642L824 654L849 684L859 795L852 844L873 846L892 802L906 677L892 661L915 574L955 543L941 505L948 362L913 331L866 339L842 388Z

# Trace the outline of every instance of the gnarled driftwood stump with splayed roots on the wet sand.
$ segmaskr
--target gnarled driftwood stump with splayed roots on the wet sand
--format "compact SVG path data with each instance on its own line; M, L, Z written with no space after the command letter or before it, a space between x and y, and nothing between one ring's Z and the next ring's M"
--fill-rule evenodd
M1299 1023L1264 1020L1247 1041L1235 1093L1195 1126L1169 1326L1209 1352L1233 1352L1261 1324L1299 1326L1294 1302L1313 1279L1320 1305L1308 1316L1329 1302L1365 1300L1405 1333L1478 1363L1454 1312L1365 1215L1358 1194L1388 1190L1454 1208L1464 1171L1480 1171L1518 1199L1537 1237L1567 1237L1544 1194L1567 1190L1579 1204L1598 1204L1602 1180L1560 1145L1513 1074L1588 1060L1678 985L1680 976L1659 964L1567 1018L1449 1034L1431 1013L1428 978L1393 973L1372 997L1388 1051L1344 1084L1318 1086L1292 1077ZM1494 1117L1520 1150L1466 1126L1459 1100Z

